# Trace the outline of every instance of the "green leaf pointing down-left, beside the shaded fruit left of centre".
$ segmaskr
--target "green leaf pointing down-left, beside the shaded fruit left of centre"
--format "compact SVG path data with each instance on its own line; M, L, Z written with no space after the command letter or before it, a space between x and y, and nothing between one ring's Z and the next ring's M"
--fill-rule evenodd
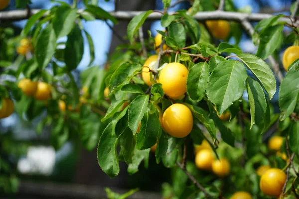
M124 63L119 66L110 78L110 92L113 92L118 86L128 84L132 77L137 75L141 69L142 66L138 63Z

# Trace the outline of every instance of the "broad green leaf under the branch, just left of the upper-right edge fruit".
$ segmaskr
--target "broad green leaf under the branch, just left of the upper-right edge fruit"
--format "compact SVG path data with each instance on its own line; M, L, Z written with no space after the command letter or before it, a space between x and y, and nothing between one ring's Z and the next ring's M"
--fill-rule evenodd
M271 26L259 35L260 44L256 54L258 57L266 59L281 46L283 42L283 28L284 25Z

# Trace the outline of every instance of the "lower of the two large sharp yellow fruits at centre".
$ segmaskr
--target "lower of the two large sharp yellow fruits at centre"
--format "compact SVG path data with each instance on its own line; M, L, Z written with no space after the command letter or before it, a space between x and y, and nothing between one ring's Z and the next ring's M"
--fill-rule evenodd
M189 135L193 128L193 116L187 106L175 103L165 110L162 123L169 135L183 138Z

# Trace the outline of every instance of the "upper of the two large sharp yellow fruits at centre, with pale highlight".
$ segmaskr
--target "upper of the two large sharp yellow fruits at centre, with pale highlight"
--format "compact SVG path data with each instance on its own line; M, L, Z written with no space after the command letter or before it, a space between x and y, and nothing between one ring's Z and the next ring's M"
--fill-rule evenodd
M187 91L188 69L180 63L169 63L161 71L159 81L164 93L170 98L177 98Z

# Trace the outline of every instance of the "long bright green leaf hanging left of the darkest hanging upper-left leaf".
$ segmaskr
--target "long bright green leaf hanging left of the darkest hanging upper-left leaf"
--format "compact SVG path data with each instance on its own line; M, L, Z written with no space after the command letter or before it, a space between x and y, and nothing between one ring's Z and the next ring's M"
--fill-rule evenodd
M51 61L56 49L56 35L52 24L48 24L37 37L35 44L36 61L44 69Z

